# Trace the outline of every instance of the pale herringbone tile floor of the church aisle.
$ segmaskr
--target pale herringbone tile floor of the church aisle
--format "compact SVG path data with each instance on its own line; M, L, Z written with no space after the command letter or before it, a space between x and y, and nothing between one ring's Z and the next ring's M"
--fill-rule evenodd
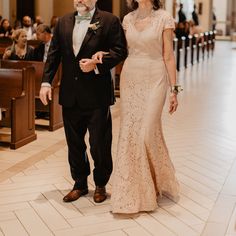
M93 202L91 179L89 195L63 203L73 184L64 132L41 129L35 142L20 149L0 147L0 235L235 236L235 46L217 42L213 58L181 71L179 109L172 116L164 109L181 185L178 203L163 198L155 212L113 216L109 199ZM115 154L119 100L112 113Z

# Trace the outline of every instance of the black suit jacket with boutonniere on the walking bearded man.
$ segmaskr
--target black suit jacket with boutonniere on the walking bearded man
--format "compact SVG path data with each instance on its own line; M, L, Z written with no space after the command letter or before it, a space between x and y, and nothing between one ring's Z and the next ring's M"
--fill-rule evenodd
M53 34L45 64L43 82L51 83L62 62L62 78L59 103L65 107L78 105L80 108L94 109L114 103L114 89L110 69L127 57L127 45L119 19L109 12L95 10L91 24L98 29L88 29L77 56L73 52L72 33L75 14L60 18ZM79 60L91 58L97 51L106 51L103 64L98 64L100 74L94 71L83 73Z

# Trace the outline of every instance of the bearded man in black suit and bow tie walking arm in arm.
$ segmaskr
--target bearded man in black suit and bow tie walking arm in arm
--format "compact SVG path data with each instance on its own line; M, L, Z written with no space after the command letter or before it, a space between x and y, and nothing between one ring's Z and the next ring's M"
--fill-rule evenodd
M87 130L94 161L95 202L106 199L105 186L112 172L110 105L114 104L114 89L110 69L126 58L127 45L119 19L100 11L96 2L74 0L77 11L58 20L40 90L46 105L47 99L51 99L50 84L62 63L59 103L75 181L72 191L63 198L65 202L88 193L90 165L84 141ZM108 52L102 63L92 59L99 51Z

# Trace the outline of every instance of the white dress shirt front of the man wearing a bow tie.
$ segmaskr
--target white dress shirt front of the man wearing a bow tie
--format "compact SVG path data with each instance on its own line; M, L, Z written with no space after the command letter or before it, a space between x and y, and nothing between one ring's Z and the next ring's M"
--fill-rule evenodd
M95 12L95 8L90 11L91 17L93 17L94 12ZM80 14L78 13L78 15ZM83 20L83 21L80 21L80 23L77 23L75 21L75 26L74 26L73 35L72 35L73 50L74 50L75 56L77 56L77 54L79 53L82 42L84 40L84 37L90 25L90 21Z

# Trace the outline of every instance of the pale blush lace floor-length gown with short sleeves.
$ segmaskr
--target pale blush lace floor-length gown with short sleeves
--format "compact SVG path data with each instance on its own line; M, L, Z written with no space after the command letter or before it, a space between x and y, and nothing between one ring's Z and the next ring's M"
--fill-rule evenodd
M120 83L121 126L112 179L113 213L157 208L157 195L176 198L179 185L162 134L161 114L169 86L162 57L163 30L174 28L164 10L153 11L151 24L135 28L136 11L123 26L129 47Z

